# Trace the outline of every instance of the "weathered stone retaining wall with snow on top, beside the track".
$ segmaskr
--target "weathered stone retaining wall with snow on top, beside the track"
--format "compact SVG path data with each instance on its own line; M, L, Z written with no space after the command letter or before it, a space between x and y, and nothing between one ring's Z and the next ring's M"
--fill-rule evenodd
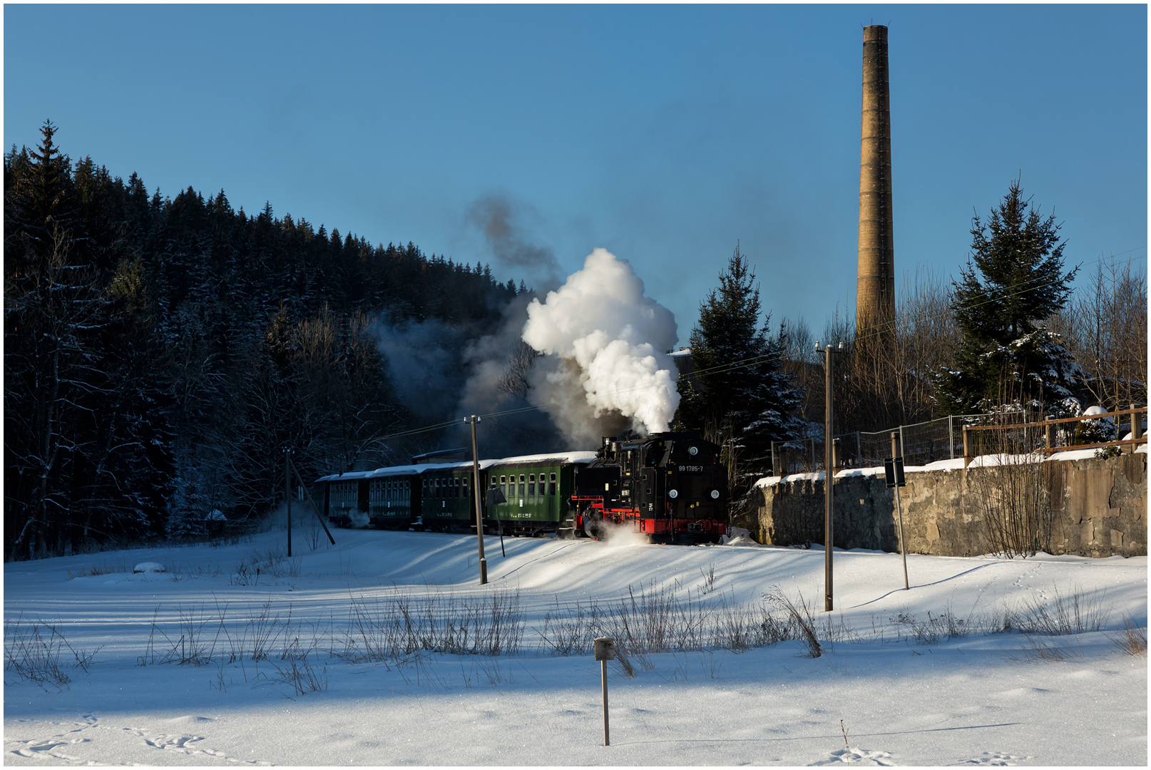
M1043 464L1052 512L1050 554L1145 556L1148 456L1051 460ZM908 468L900 489L907 550L936 556L977 556L989 544L973 490L980 467ZM823 479L787 477L753 489L733 520L761 543L823 542ZM818 474L822 475L822 474ZM837 548L899 550L895 498L882 473L843 471L834 480Z

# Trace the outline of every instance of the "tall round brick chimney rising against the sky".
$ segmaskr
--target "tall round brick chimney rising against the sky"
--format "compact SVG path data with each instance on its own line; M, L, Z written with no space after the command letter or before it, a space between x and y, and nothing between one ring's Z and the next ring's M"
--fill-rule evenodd
M863 28L863 130L860 142L860 246L855 334L892 331L895 258L891 228L891 104L887 28Z

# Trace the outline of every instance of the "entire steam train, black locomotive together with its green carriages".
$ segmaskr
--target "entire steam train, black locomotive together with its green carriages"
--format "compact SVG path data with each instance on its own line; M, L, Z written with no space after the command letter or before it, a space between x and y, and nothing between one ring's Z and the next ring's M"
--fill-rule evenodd
M727 529L725 481L719 447L694 433L605 437L596 452L485 459L483 497L503 502L485 505L483 527L602 538L613 525L653 542L714 542ZM474 532L473 483L472 463L402 465L323 477L314 498L337 526Z

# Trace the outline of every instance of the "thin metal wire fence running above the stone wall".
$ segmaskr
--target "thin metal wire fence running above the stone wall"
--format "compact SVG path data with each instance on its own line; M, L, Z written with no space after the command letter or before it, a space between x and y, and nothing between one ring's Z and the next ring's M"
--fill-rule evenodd
M887 430L841 433L836 436L839 467L875 467L891 457L891 434L898 434L906 465L927 465L963 456L963 426L985 414L955 414L937 420L901 425ZM824 467L823 436L771 442L773 475L809 473Z

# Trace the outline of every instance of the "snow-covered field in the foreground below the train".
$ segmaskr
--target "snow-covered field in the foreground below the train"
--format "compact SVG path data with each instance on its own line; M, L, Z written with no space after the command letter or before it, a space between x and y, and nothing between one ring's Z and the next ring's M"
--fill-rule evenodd
M5 763L1148 763L1145 557L910 556L902 590L836 551L829 624L817 549L488 538L480 587L474 538L307 532L5 564ZM740 649L800 595L818 657ZM625 620L604 747L588 650Z

